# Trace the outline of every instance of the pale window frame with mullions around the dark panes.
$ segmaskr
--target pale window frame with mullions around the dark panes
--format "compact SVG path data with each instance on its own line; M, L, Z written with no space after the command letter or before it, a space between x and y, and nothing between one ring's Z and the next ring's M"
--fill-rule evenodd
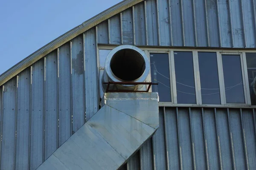
M112 50L118 45L98 45L98 54L100 49ZM137 46L141 50L145 51L145 54L148 56L150 61L150 53L167 53L169 58L169 74L170 74L170 87L171 87L171 99L172 102L159 102L159 106L184 106L184 107L232 107L232 108L256 108L256 105L251 105L250 101L250 90L249 90L249 81L247 75L247 63L246 63L246 53L256 53L254 49L204 49L204 48L165 48L165 47L145 47ZM194 68L194 79L195 79L195 94L196 94L196 104L177 104L177 88L176 88L176 76L175 76L175 62L174 62L174 51L190 51L193 55L193 68ZM198 61L198 52L215 52L217 57L217 67L218 67L218 78L219 78L219 88L220 88L220 98L221 105L212 105L212 104L202 104L201 96L201 81L199 73L199 61ZM244 88L244 101L245 103L227 103L226 102L226 93L224 85L224 73L222 65L222 55L240 55L241 62L241 72L243 79L243 88ZM99 59L99 56L98 56ZM99 63L99 61L98 61ZM99 71L99 68L98 68ZM147 82L151 82L151 72L146 79ZM150 89L151 92L151 89Z

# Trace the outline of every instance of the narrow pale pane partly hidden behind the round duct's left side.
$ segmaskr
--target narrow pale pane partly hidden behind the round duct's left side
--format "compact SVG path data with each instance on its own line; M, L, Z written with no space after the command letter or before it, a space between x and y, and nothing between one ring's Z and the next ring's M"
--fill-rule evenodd
M104 72L104 67L105 67L105 60L108 56L108 53L110 52L111 50L99 50L99 85L100 85L100 97L103 96L104 92L103 92L103 89L102 89L102 75L103 75L103 72Z

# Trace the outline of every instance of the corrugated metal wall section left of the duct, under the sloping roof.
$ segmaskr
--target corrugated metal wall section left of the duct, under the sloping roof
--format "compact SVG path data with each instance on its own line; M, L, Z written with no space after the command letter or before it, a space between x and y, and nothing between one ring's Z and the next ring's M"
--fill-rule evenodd
M35 170L99 110L95 35L90 29L0 87L1 170Z

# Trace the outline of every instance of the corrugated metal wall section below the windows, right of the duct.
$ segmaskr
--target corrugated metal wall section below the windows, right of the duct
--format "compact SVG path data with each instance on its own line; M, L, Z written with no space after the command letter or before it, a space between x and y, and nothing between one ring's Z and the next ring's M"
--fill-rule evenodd
M255 123L255 109L160 108L159 129L123 169L254 170Z

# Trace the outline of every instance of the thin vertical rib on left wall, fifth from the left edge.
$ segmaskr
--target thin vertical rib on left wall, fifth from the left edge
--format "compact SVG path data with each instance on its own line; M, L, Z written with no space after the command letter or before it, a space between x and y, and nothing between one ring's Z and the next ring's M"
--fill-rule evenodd
M57 48L57 148L59 147L59 48Z

